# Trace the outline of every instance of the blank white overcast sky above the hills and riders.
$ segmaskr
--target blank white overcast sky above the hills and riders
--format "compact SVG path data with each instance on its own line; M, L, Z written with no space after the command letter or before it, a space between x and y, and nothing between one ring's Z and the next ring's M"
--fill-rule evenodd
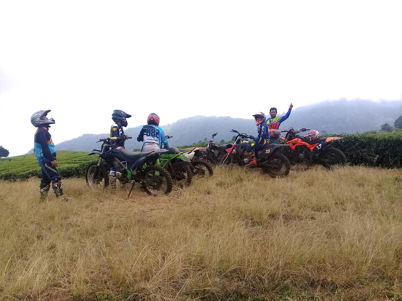
M252 118L324 100L398 100L400 1L0 0L0 145L57 144L195 115ZM200 125L202 126L202 125ZM57 149L57 147L56 147Z

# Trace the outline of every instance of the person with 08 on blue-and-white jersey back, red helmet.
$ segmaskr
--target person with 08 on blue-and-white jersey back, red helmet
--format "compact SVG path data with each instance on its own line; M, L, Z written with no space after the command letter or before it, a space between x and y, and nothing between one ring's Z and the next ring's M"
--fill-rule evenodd
M169 149L168 140L165 133L159 126L159 116L155 113L148 115L146 125L140 130L137 141L143 141L141 151L144 150L160 150L162 148Z

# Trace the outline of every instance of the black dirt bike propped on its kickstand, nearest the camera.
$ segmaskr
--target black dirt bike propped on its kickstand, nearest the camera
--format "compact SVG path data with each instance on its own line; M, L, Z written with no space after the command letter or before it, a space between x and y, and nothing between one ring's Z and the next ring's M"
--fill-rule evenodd
M98 164L91 165L86 173L88 186L106 188L109 185L109 170L115 167L117 179L125 177L132 183L128 197L135 183L141 183L149 195L162 195L172 191L172 176L162 166L155 165L161 151L131 152L125 148L117 149L114 141L121 139L125 138L108 137L96 141L103 143L100 150L94 149L88 154L99 155Z

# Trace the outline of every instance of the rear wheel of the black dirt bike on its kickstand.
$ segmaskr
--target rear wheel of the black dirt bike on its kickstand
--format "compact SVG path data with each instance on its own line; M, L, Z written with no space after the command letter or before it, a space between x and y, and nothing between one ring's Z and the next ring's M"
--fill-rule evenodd
M172 191L173 179L163 167L151 165L145 169L141 185L149 195L158 196Z

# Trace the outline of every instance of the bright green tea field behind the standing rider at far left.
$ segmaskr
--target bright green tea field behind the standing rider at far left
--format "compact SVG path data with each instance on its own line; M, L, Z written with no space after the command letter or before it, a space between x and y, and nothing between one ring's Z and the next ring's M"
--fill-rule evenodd
M90 162L96 161L98 156L88 156L86 152L76 152L71 150L57 151L58 169L62 176L63 171L68 175L71 167L80 167ZM0 179L19 179L37 176L41 172L35 154L21 155L10 158L0 159Z

